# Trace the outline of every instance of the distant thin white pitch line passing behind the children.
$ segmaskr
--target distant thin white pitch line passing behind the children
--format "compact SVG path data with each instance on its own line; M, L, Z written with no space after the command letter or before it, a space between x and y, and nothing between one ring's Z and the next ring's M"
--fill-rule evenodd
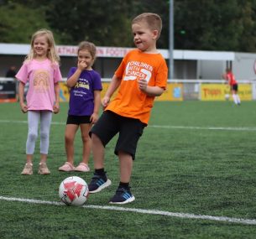
M28 123L27 121L0 120L0 122ZM52 122L55 125L65 125L65 122ZM149 125L149 127L177 128L177 129L204 129L204 130L228 130L228 131L256 131L256 127L196 127L196 126L170 126L170 125Z

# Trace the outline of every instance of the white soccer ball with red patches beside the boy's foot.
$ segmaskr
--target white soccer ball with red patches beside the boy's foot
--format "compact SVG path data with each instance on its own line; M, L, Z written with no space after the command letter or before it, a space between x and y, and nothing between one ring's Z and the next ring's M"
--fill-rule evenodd
M88 185L80 177L68 177L60 183L59 196L65 205L83 205L88 195Z

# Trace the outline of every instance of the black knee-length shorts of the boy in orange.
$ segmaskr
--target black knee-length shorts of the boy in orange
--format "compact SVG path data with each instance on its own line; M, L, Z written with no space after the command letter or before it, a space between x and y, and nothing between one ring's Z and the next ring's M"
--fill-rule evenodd
M142 136L146 125L138 119L122 117L114 112L103 112L97 123L91 128L91 133L101 139L104 147L117 134L118 142L115 147L115 154L123 151L135 159L138 139Z

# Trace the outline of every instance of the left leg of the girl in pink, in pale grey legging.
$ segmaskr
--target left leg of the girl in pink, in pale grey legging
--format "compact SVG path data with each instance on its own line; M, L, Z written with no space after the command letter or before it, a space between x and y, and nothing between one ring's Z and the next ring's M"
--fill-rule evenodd
M29 111L28 112L28 125L29 132L26 143L26 154L27 163L32 164L35 142L38 137L38 127L39 127L39 112Z

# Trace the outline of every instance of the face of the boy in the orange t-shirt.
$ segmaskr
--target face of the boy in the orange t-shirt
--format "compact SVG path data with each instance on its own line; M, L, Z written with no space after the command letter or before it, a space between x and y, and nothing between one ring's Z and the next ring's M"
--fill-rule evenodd
M138 49L144 52L150 52L156 47L157 30L149 28L148 23L141 21L133 23L133 42Z

